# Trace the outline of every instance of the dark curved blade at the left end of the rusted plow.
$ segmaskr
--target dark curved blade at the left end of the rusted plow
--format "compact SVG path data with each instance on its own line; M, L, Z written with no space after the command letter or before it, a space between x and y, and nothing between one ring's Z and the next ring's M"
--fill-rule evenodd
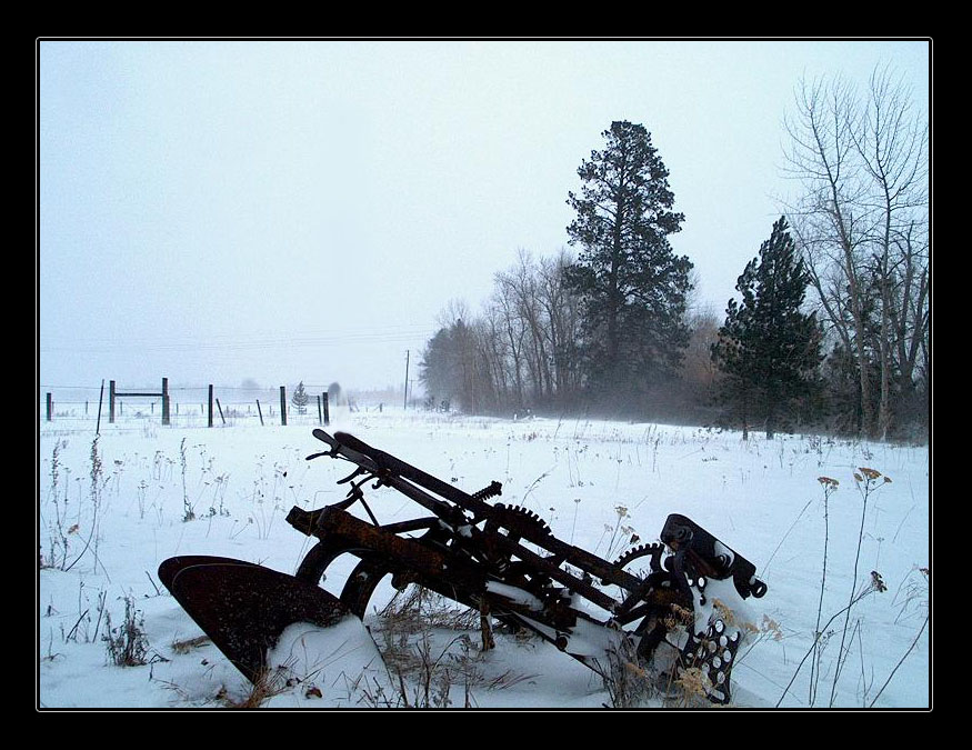
M159 566L159 580L253 683L289 626L308 622L329 628L350 613L317 586L232 558L170 558Z

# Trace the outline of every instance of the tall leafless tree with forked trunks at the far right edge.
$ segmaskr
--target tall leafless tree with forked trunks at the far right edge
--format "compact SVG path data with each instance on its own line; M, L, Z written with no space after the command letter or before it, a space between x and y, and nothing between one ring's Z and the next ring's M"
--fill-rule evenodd
M793 234L821 318L854 357L859 430L883 437L928 331L923 110L884 68L863 98L841 78L801 81L785 124L784 169L798 183L786 206Z

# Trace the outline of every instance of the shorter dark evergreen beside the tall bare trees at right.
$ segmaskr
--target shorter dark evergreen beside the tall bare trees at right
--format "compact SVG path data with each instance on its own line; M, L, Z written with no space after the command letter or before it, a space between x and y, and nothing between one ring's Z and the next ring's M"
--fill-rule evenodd
M810 277L788 230L781 217L746 264L735 284L742 301L729 300L725 324L712 344L725 376L724 398L740 409L744 429L752 417L762 417L766 438L781 412L812 390L821 360L815 313L800 311Z

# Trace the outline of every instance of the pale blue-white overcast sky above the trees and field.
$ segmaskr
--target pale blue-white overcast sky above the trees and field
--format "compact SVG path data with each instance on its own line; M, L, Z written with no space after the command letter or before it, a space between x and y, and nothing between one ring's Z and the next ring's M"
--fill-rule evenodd
M410 378L450 300L568 247L614 120L669 169L672 236L718 311L782 212L802 77L930 42L40 40L39 390Z

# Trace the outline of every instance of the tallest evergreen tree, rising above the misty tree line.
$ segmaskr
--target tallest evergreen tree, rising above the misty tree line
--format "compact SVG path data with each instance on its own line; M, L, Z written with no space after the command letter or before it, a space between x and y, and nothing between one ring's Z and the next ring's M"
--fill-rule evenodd
M678 368L689 340L692 263L669 244L684 216L672 210L651 134L631 122L602 134L605 148L578 169L580 194L569 193L577 218L568 234L580 247L569 282L584 303L588 386L618 403Z

